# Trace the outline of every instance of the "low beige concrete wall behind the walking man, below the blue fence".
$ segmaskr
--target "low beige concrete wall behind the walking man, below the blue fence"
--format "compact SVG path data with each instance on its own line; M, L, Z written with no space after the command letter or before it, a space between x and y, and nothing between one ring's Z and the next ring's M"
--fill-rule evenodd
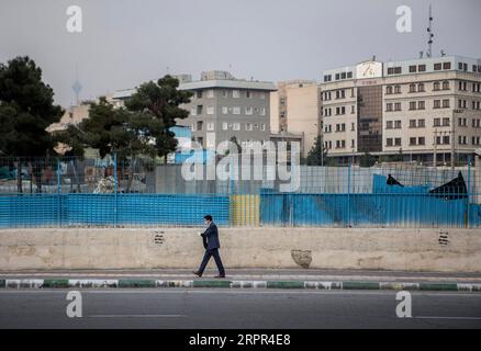
M481 234L472 229L230 228L221 229L221 245L227 269L481 272ZM191 228L0 230L4 271L194 269L202 253L201 238Z

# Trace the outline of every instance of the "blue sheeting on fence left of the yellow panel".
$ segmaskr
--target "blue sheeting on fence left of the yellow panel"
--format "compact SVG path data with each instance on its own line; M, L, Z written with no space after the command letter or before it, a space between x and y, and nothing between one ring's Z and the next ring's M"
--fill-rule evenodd
M0 227L228 224L228 196L38 194L0 196Z

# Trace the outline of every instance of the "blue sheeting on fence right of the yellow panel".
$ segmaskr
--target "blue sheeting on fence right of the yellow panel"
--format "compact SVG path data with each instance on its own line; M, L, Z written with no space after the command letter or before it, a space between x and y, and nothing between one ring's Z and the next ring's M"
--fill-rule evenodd
M262 193L265 226L457 227L468 226L466 200L430 194ZM469 205L469 226L481 225L481 205Z

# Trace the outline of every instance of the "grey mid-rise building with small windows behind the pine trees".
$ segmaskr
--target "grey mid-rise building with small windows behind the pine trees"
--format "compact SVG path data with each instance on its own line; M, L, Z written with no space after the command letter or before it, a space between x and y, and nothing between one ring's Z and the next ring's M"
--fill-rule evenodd
M179 126L190 127L193 141L213 149L233 137L242 146L269 140L269 93L276 90L272 82L236 79L221 70L203 71L197 81L190 75L175 77L180 90L193 93L190 103L181 106L189 116L177 121ZM121 102L134 92L119 91L114 100Z

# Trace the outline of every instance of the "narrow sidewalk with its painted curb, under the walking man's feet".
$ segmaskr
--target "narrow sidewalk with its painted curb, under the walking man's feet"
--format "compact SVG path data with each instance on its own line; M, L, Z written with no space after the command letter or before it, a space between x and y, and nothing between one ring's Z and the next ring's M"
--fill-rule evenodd
M373 270L215 270L198 278L189 270L52 270L0 271L0 288L70 287L227 287L311 290L420 290L481 292L481 273Z

